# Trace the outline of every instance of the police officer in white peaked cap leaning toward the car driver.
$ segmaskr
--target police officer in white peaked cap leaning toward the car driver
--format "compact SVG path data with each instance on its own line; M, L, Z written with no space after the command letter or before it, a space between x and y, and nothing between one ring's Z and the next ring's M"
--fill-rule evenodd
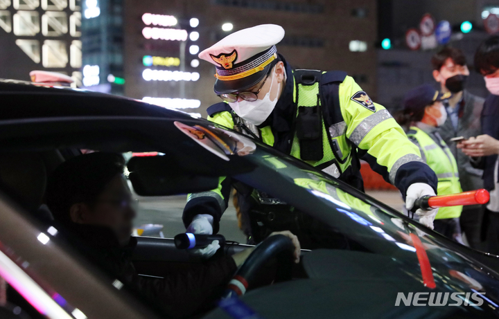
M435 195L435 173L389 112L343 71L292 69L275 46L283 37L281 26L265 24L232 33L200 53L216 66L214 91L222 100L208 108L208 120L259 138L359 190L362 158L401 190L409 209L418 197ZM231 183L220 180L216 190L189 195L183 215L188 231L218 232Z

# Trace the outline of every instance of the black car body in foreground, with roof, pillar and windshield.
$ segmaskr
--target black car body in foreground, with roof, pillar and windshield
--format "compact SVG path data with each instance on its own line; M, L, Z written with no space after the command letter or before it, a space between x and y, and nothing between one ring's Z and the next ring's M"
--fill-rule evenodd
M304 252L299 265L304 275L244 295L241 302L263 318L498 316L498 257L450 241L259 141L252 140L254 149L244 154L234 147L203 147L178 123L202 127L222 140L241 138L207 120L137 100L0 82L0 275L40 313L49 318L157 316L120 291L122 283L105 277L54 238L50 220L38 209L51 170L64 158L78 156L80 149L92 149L164 154L165 163L175 170L178 188L142 185L143 194L196 192L209 185L203 176L231 176L286 201L348 239L344 249ZM25 170L7 168L22 161ZM17 178L12 182L6 178L9 174ZM161 178L164 174L169 173L157 173ZM189 188L182 176L199 183ZM229 253L243 248L231 245ZM139 237L134 258L144 275L157 276L158 268L197 262L176 250L171 239L150 237ZM152 269L148 263L160 266ZM444 299L446 305L428 305ZM234 317L215 309L206 318Z

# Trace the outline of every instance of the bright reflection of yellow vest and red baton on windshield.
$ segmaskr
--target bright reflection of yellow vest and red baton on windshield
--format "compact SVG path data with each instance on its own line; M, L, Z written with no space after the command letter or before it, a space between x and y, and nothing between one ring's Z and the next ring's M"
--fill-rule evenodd
M295 159L270 152L272 150L259 148L249 156L251 161L264 165L268 170L244 182L272 194L275 202L286 202L295 208L290 211L303 212L320 220L320 227L311 223L306 226L310 227L309 233L322 236L321 241L315 242L322 248L385 255L399 265L403 273L427 288L437 283L437 286L453 291L476 289L491 295L499 292L494 281L491 281L491 275L480 266L475 266L466 255L450 248L446 239L433 237L425 228L414 226L415 221L411 222L399 212L378 205L367 196L358 195L348 186L312 167L304 168ZM276 187L276 184L281 183L286 183L286 188ZM304 194L304 191L309 195ZM315 200L310 199L310 195ZM340 239L346 244L336 247L328 245L331 241L338 243ZM477 289L480 287L481 290Z

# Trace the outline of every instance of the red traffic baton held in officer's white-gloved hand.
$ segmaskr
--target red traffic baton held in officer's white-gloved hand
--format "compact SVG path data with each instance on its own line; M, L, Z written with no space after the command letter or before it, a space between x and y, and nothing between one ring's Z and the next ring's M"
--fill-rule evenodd
M490 194L483 188L480 190L470 190L452 195L442 196L423 196L419 197L414 203L414 208L423 210L432 210L434 208L461 206L461 205L477 205L488 203Z

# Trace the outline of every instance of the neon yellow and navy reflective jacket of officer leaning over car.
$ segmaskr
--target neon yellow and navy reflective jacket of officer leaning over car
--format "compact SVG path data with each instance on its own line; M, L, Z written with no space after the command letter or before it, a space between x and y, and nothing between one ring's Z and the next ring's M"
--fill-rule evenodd
M362 158L375 172L381 174L385 181L399 188L404 199L405 192L412 183L428 183L432 188L437 189L435 173L421 159L419 149L410 143L403 129L389 112L380 104L372 102L353 78L346 76L345 73L333 71L322 73L320 82L303 86L297 84L299 81L296 80L295 72L289 66L286 74L288 74L286 91L283 91L273 113L281 107L279 109L281 113L283 109L294 108L297 114L297 106L315 106L319 93L321 97L319 105L322 110L323 157L319 161L306 161L307 163L331 175L334 173L331 165L335 163L338 165L340 180L363 190L359 162L359 158ZM289 75L293 76L289 78ZM285 95L286 104L282 104ZM334 102L335 100L338 102ZM211 122L234 129L236 125L234 120L237 116L227 103L214 104L209 107L208 113L208 120ZM296 122L296 116L291 120ZM291 132L292 135L284 141L285 143L282 138L279 143L274 143L277 140L275 134L281 133L283 127L282 125L274 127L275 118L265 121L264 125L266 123L270 125L258 129L263 143L281 152L286 152L286 146L283 147L283 145L290 145L287 149L288 154L300 158L299 140L296 133ZM283 126L292 128L295 125L288 122ZM228 179L220 179L220 181L221 184L228 183ZM224 187L221 191L222 201L227 207L229 190L225 193L223 189ZM204 198L207 203L211 203L211 206L220 203L218 192L212 192L209 195L212 197ZM191 198L193 197L190 196L189 199ZM219 209L222 211L215 213L212 208L207 210L206 207L201 207L202 205L201 198L197 196L188 201L184 208L184 224L189 226L194 215L210 214L215 217L214 230L218 230L218 220L223 213L222 208L225 210L225 207L220 206Z

